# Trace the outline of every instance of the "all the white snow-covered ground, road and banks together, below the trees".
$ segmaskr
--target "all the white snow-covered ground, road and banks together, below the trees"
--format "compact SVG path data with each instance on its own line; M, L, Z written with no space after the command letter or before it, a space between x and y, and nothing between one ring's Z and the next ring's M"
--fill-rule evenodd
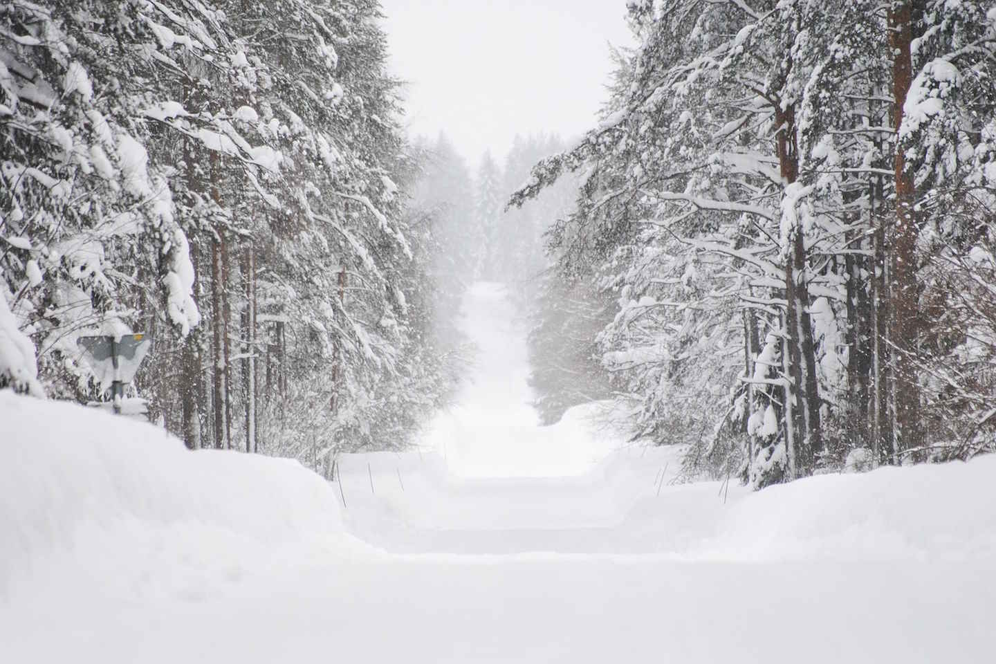
M0 662L992 661L996 458L674 485L594 406L538 430L501 290L467 312L438 451L331 485L0 393Z

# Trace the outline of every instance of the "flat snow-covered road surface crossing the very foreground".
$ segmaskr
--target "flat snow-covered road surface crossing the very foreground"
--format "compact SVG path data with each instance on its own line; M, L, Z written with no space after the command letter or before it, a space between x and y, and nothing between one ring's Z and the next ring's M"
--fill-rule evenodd
M6 662L991 662L960 565L527 556L297 565L207 596L51 597ZM989 576L989 580L992 576ZM988 614L987 614L988 613Z

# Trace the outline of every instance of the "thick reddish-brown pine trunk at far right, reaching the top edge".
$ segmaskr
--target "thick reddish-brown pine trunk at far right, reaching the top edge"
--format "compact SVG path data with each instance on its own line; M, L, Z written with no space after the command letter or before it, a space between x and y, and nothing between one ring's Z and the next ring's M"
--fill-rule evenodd
M904 148L898 136L902 125L902 107L912 83L911 3L892 0L889 6L889 49L892 53L893 121L895 142L895 224L893 238L895 273L892 278L890 345L894 380L894 453L919 447L922 443L919 409L920 393L916 375L917 336L919 333L919 294L916 287L916 186L906 164Z

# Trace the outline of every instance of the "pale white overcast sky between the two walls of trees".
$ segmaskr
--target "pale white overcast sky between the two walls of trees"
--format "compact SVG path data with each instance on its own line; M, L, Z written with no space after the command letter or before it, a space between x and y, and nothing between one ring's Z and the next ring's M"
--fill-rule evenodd
M516 133L565 138L595 123L629 45L625 0L381 0L391 72L413 135L444 130L472 168Z

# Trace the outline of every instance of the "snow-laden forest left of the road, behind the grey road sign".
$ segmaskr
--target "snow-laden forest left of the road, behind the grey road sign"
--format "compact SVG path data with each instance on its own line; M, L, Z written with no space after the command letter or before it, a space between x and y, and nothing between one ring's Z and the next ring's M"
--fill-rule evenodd
M463 275L436 271L445 233L405 200L424 159L378 4L0 16L4 381L98 398L79 336L142 332L132 387L188 447L319 468L402 444L450 388L427 303Z

